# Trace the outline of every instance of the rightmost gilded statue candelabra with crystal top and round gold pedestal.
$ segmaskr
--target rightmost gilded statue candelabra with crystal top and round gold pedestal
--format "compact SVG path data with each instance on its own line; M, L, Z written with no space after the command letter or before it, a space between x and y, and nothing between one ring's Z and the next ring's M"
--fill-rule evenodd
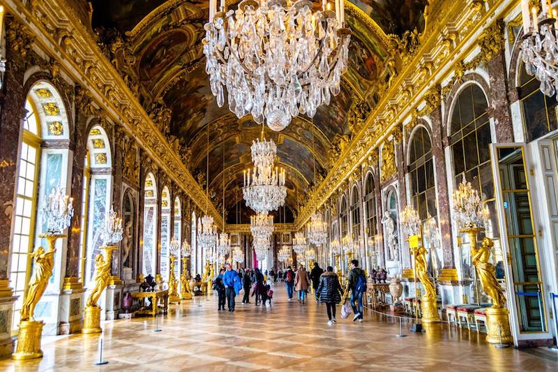
M492 240L483 238L481 247L478 248L476 237L478 232L484 230L488 221L488 209L482 207L481 198L470 182L463 178L458 189L453 191L453 215L455 222L460 227L460 232L469 236L471 257L475 267L475 277L480 278L485 293L492 298L492 306L486 309L486 328L488 343L511 343L509 324L509 311L505 307L506 297L500 287L495 267L490 263L490 253L493 246Z

